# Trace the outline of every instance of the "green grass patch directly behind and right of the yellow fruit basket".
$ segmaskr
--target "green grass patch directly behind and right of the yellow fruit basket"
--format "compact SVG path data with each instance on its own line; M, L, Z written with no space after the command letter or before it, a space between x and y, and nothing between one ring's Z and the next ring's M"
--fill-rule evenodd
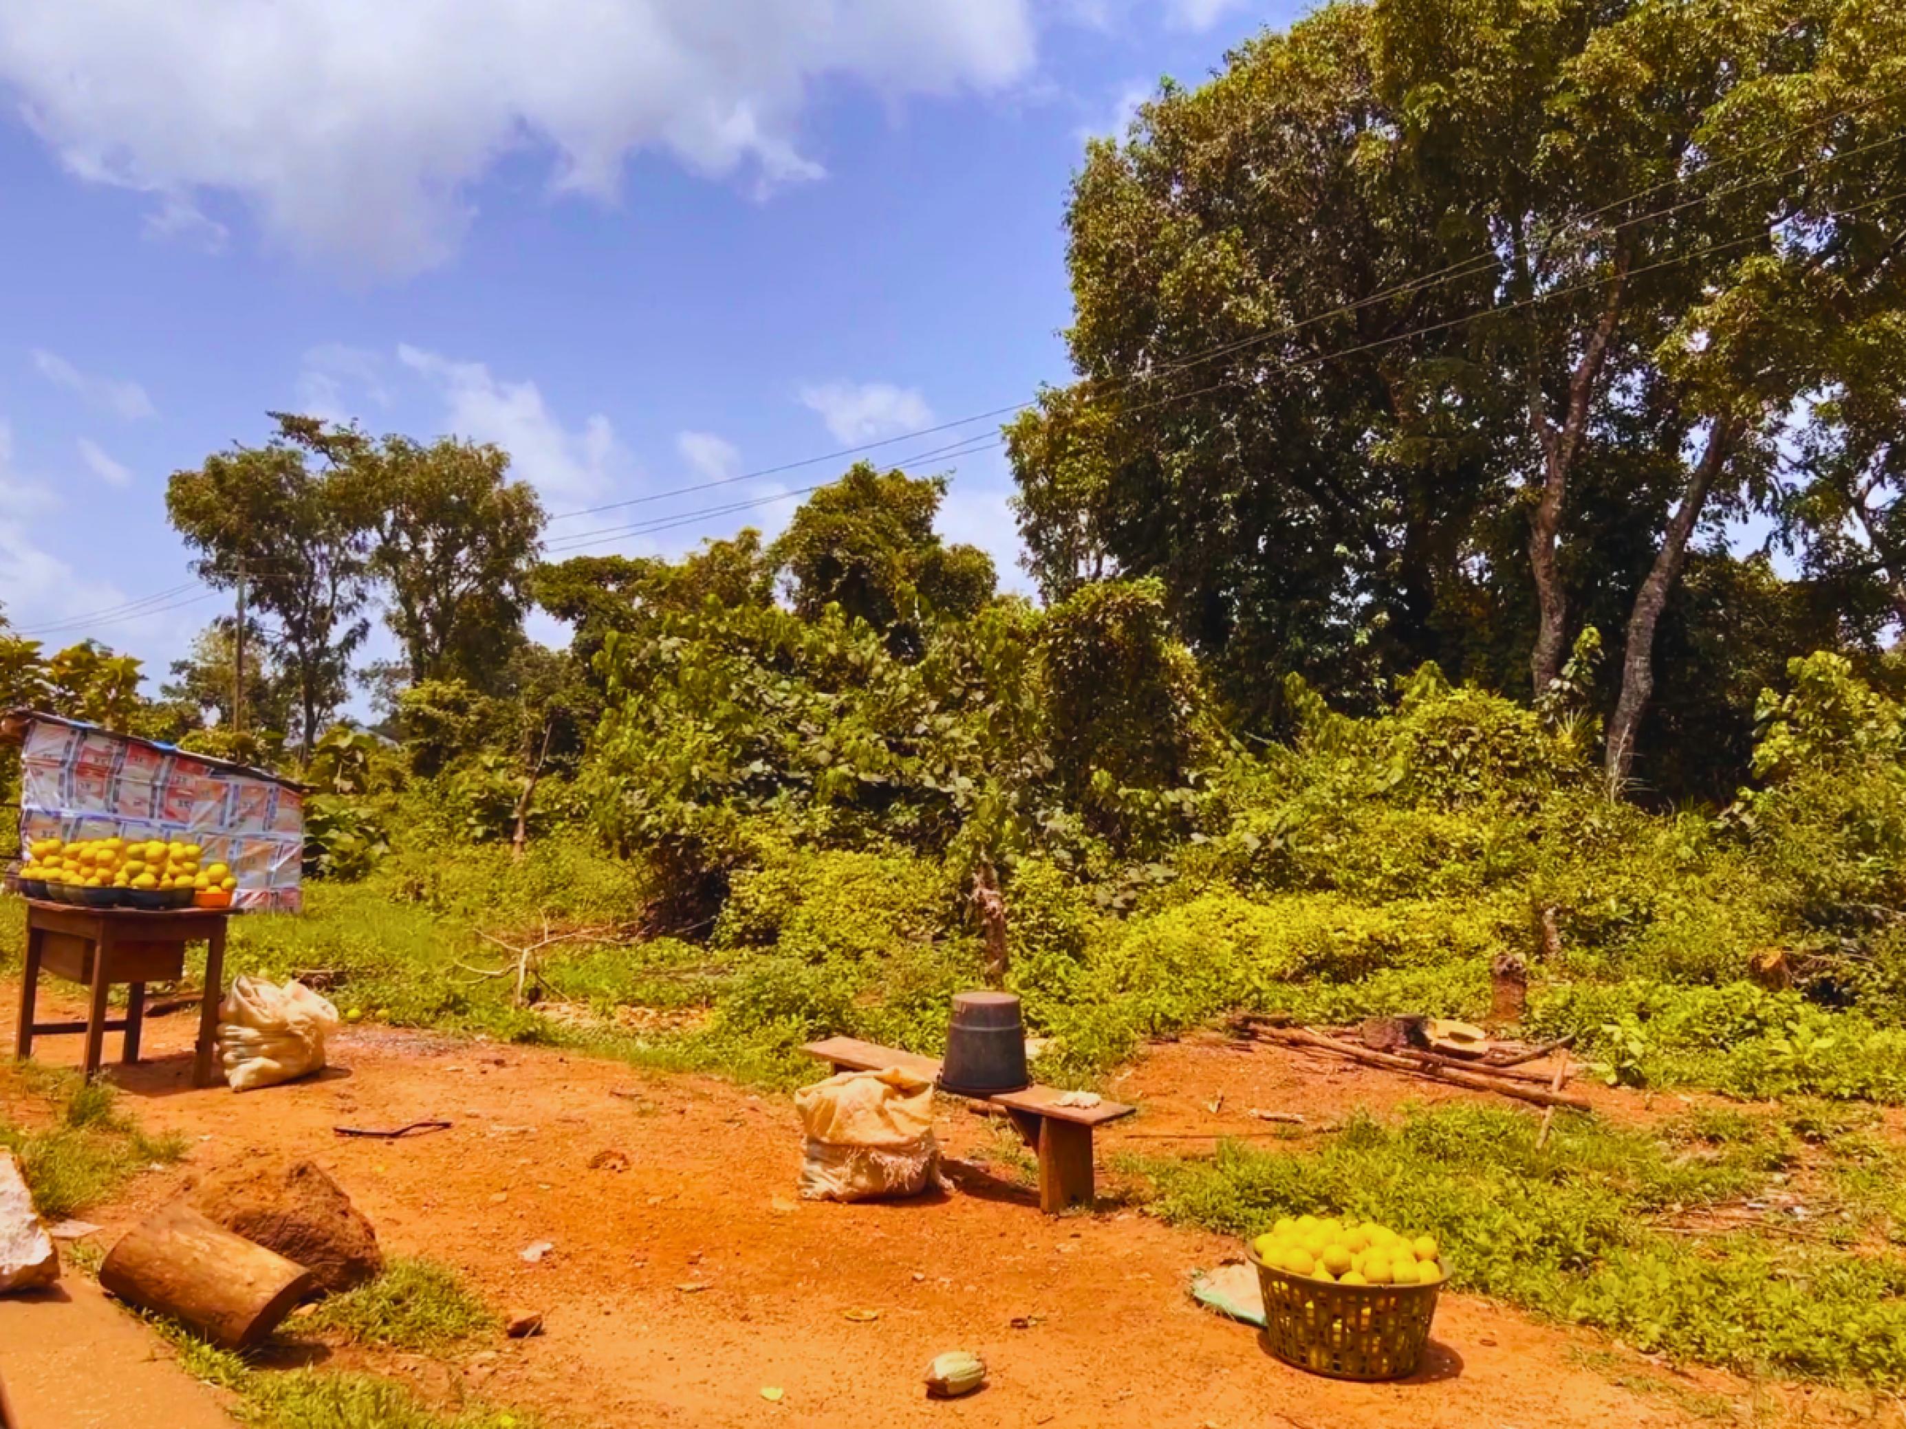
M1651 1218L1740 1200L1786 1162L1778 1126L1662 1134L1492 1107L1357 1118L1308 1151L1218 1147L1130 1162L1153 1210L1239 1237L1277 1216L1348 1214L1435 1235L1458 1290L1592 1324L1643 1351L1742 1372L1906 1383L1906 1261L1754 1233L1683 1237Z

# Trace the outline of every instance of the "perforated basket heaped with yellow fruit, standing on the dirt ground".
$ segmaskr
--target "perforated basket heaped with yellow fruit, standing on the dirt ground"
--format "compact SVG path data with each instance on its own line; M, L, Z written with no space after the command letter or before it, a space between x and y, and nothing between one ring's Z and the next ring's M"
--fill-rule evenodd
M1376 1221L1283 1218L1245 1248L1264 1336L1285 1364L1336 1379L1401 1379L1430 1341L1443 1252Z

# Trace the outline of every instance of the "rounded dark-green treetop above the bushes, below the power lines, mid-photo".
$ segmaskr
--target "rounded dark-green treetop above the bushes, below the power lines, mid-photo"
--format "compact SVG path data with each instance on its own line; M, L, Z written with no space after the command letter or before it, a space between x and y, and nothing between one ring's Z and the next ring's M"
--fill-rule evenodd
M882 473L858 461L802 501L768 549L795 612L814 619L841 606L909 657L924 648L928 621L978 612L993 598L993 560L972 545L943 545L934 533L945 490L945 476Z

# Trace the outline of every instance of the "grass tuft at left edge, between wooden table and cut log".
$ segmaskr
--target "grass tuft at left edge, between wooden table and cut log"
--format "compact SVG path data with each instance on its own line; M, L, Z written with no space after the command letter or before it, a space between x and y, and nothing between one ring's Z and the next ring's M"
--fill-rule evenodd
M19 1158L32 1204L48 1219L111 1200L139 1172L185 1155L181 1136L147 1136L120 1115L107 1082L30 1063L11 1075L44 1101L46 1115L34 1124L0 1120L0 1147Z

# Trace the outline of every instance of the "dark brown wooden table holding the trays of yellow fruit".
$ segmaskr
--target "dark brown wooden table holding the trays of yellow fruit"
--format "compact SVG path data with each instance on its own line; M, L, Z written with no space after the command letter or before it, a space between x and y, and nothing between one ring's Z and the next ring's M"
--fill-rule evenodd
M19 1033L13 1056L30 1057L34 1037L86 1033L86 1075L99 1071L107 1033L126 1033L120 1061L139 1059L145 1023L145 985L185 976L185 945L206 945L206 991L198 1004L198 1050L193 1086L217 1082L215 1038L225 976L225 909L82 909L72 903L27 899L27 972L19 987ZM91 989L86 1021L34 1021L40 972ZM107 991L130 983L126 1016L107 1017Z

